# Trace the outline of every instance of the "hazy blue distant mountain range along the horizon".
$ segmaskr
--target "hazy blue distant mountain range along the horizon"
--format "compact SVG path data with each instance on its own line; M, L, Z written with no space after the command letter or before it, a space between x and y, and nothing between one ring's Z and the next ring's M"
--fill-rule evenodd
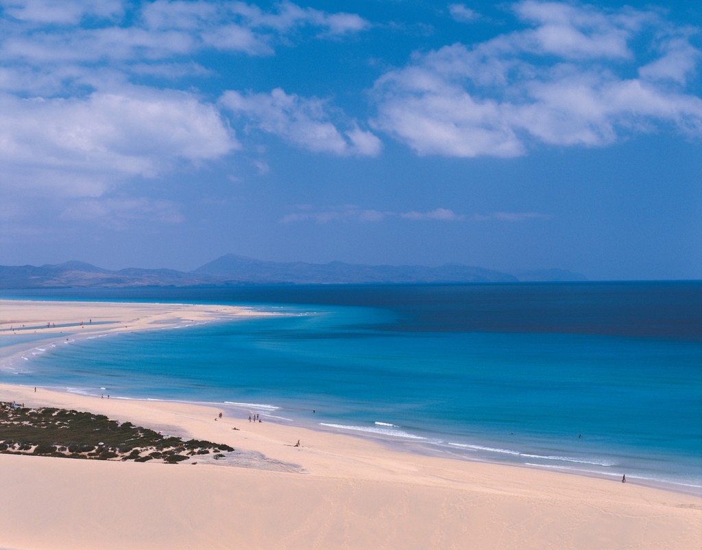
M171 269L107 270L69 261L44 266L0 266L0 288L49 287L192 287L236 284L352 284L423 282L584 281L579 273L548 269L502 273L447 264L426 266L364 266L331 263L273 262L227 254L185 273Z

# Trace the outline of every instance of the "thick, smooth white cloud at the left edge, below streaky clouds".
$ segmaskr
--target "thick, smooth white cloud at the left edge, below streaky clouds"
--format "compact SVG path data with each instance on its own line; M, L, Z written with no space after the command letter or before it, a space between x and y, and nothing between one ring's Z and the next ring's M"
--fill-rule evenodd
M96 196L134 176L237 148L213 105L187 93L124 89L82 99L0 96L4 188Z

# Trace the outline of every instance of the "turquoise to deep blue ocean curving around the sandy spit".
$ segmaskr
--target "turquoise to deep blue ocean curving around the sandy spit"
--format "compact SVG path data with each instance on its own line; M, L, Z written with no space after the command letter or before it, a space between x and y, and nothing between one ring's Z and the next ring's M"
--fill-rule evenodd
M409 452L702 493L702 282L0 294L286 314L70 345L27 336L3 382L216 403Z

